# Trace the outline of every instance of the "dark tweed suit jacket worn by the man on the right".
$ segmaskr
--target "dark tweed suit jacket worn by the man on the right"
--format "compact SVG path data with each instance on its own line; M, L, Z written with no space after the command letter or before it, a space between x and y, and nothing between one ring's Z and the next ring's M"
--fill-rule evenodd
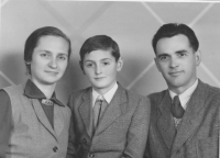
M167 90L150 95L152 103L145 158L218 158L220 89L199 80L174 137Z

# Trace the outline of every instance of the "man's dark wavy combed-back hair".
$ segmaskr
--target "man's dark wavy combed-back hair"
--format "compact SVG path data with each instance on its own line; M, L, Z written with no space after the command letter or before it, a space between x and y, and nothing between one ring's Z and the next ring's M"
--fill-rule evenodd
M154 53L156 54L156 44L161 38L173 37L178 34L186 35L189 40L189 44L191 45L193 49L195 52L198 50L199 42L196 37L195 32L189 26L187 26L186 24L168 23L162 25L152 40Z

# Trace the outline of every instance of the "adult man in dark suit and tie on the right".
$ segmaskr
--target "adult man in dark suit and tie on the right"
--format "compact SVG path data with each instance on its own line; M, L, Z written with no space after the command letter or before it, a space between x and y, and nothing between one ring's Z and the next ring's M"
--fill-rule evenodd
M152 45L168 90L150 94L145 158L217 158L220 89L197 78L201 56L194 31L185 24L164 24Z

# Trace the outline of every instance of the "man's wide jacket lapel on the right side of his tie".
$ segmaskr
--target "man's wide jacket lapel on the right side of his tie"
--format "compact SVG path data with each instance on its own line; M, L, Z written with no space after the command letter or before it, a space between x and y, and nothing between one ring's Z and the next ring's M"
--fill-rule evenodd
M174 140L172 155L174 155L183 144L194 134L195 129L201 122L202 117L198 115L198 112L204 108L206 99L206 88L204 83L199 80L199 83L193 93L187 109L185 111L179 128L177 129L177 135Z

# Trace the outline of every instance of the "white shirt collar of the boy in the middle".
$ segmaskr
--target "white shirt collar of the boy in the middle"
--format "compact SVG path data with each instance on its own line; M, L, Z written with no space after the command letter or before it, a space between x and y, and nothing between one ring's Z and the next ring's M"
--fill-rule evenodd
M111 100L112 100L112 98L113 98L113 95L114 95L114 93L116 93L118 87L119 87L119 86L118 86L118 83L116 82L114 86L113 86L108 92L106 92L106 93L102 95L102 97L105 98L105 100L106 100L108 103L111 102ZM99 94L97 91L95 91L95 89L92 89L92 106L95 105L95 102L96 102L98 95L101 95L101 94Z

